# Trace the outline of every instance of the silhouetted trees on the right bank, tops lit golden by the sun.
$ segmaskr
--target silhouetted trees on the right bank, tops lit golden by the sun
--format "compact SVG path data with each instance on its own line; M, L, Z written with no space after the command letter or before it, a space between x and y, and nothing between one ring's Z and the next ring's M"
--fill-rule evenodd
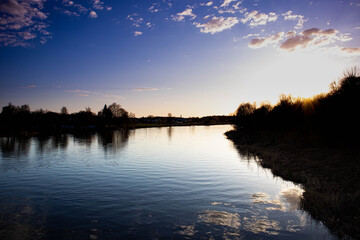
M275 106L242 103L235 112L238 131L286 133L304 141L359 143L360 69L350 68L312 98L281 95Z

